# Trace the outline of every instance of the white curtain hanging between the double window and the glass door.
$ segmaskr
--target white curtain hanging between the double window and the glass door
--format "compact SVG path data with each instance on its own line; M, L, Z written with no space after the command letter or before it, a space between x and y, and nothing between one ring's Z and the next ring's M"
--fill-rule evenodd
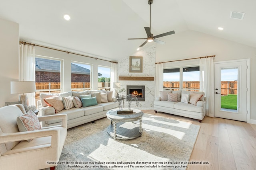
M206 97L206 115L214 117L214 66L213 58L200 59L200 91Z

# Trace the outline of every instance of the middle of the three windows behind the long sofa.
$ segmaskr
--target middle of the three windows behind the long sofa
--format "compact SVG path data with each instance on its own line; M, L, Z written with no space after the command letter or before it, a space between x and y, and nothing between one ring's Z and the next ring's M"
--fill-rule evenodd
M71 90L84 91L91 89L92 65L84 63L71 63Z

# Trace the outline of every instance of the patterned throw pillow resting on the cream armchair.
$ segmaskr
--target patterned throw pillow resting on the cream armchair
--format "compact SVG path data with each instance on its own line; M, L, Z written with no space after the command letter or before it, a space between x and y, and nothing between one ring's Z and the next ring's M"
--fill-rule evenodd
M35 131L41 129L38 117L32 110L28 111L28 113L25 113L24 115L18 116L16 121L20 132ZM28 139L27 141L30 142L31 140L32 139Z

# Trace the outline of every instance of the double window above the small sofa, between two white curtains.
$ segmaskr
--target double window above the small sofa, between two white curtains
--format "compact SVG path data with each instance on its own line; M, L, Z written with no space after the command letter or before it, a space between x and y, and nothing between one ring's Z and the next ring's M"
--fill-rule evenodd
M164 90L199 91L199 66L164 69L163 87Z

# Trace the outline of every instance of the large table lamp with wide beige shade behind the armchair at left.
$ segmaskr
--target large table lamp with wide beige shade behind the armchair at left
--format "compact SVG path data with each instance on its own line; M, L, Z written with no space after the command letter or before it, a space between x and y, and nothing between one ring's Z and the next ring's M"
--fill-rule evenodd
M34 81L11 82L11 94L20 94L19 101L25 109L28 106L28 95L25 93L36 92L36 83Z

